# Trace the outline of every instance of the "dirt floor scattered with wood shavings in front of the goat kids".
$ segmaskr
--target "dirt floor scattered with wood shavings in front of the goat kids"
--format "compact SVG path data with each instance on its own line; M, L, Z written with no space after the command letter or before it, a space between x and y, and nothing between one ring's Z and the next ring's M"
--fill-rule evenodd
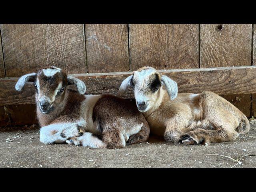
M256 156L244 156L256 154L256 121L250 124L250 132L236 142L186 146L151 136L147 143L115 150L44 145L39 141L38 128L0 132L0 167L256 168Z

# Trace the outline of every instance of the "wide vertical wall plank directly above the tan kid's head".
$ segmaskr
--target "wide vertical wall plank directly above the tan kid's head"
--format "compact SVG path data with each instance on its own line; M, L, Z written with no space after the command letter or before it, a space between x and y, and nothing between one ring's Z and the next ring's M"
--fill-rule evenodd
M131 70L198 68L198 24L129 24Z

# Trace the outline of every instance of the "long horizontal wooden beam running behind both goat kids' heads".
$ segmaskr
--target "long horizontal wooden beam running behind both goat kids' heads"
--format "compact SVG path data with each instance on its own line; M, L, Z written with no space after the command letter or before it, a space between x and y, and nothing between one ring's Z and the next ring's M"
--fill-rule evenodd
M256 66L237 66L201 69L158 70L178 83L179 92L200 93L204 90L217 94L256 93ZM114 94L122 80L132 72L74 74L86 83L88 94ZM26 84L23 92L14 88L18 78L0 78L0 106L34 104L34 86ZM70 86L74 88L74 86ZM126 98L132 97L128 90Z

